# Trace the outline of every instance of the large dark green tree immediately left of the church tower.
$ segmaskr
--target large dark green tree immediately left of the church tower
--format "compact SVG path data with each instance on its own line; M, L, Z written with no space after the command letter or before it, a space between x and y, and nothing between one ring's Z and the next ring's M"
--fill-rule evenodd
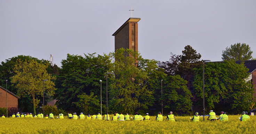
M58 107L75 111L75 102L79 101L77 96L82 93L88 95L90 92L94 92L94 95L100 100L99 80L102 80L102 100L106 100L105 73L109 70L110 65L111 59L106 54L103 56L85 54L85 57L67 54L67 59L62 60L62 68L59 70L56 80L58 89L55 98L59 100L57 101Z

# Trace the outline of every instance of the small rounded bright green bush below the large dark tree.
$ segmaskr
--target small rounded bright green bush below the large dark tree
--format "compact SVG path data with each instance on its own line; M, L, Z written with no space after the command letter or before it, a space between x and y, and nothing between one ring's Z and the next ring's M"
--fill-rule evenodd
M83 93L82 95L77 96L79 98L78 102L75 102L79 110L83 113L98 113L101 109L101 104L97 99L97 96L94 96L94 93L91 92L90 95Z

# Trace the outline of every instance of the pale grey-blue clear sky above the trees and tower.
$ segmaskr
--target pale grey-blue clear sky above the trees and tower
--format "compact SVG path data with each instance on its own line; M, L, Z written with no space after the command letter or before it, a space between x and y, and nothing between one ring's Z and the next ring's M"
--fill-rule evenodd
M61 66L66 55L114 51L112 34L131 17L138 51L168 61L191 45L202 60L246 43L256 58L255 0L0 0L0 62L18 55Z

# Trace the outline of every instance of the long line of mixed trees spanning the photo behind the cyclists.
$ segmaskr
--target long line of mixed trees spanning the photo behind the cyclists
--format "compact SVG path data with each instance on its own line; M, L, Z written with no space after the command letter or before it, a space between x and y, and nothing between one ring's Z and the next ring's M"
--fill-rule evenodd
M251 54L249 45L237 43L223 51L223 62L205 65L207 110L237 114L255 108L254 88L251 81L246 81L248 69L243 63L235 63L253 59ZM108 75L109 113L155 114L161 111L163 101L164 111L192 114L194 110L202 112L200 58L190 45L184 47L182 55L171 53L166 62L144 59L123 48L104 55L67 54L61 68L51 66L47 60L18 55L1 62L0 85L5 87L5 80L11 81L7 89L21 97L19 111L42 111L42 80L47 79L45 102L57 99L56 105L62 111L98 113L101 89L102 111L106 110L105 73L113 72Z

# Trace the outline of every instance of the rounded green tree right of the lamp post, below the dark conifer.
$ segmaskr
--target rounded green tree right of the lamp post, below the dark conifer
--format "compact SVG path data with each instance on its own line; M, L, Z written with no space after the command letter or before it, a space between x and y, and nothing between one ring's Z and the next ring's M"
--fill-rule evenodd
M165 108L189 112L192 94L186 86L187 81L179 75L168 76L163 80L163 99Z

